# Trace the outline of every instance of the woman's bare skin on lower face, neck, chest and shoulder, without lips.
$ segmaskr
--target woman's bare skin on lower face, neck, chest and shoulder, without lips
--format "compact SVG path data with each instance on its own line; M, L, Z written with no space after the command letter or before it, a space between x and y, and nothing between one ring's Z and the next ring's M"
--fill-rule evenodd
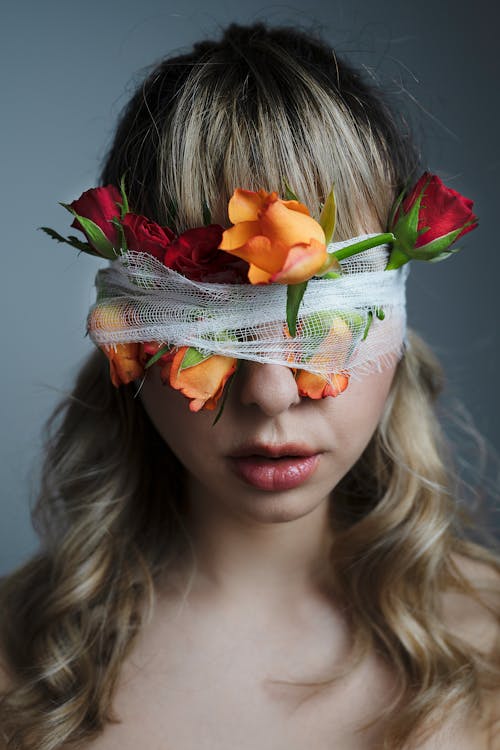
M197 568L158 590L152 620L126 660L109 724L88 750L376 750L394 676L376 653L323 692L272 680L314 681L342 664L349 626L325 588L327 508L335 485L378 424L393 368L336 398L300 399L287 368L245 363L222 420L193 414L153 371L142 399L189 476ZM320 452L303 485L267 492L228 467L242 441L300 440ZM333 494L332 494L333 493ZM450 625L474 643L496 626L449 597ZM495 630L496 632L496 630ZM370 720L366 730L358 731ZM408 750L498 750L479 719L449 717Z

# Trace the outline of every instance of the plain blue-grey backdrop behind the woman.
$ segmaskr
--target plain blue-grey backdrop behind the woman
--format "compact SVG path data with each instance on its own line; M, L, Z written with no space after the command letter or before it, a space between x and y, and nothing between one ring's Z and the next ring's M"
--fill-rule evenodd
M319 28L385 82L428 166L475 199L481 226L452 260L413 264L409 320L447 370L448 400L499 445L497 11L494 3L313 0L10 0L1 6L2 434L0 572L36 547L29 505L42 423L92 344L84 321L95 259L36 228L67 232L69 202L96 184L113 125L143 69L230 21ZM418 267L417 267L418 266ZM451 425L465 475L476 455ZM462 436L461 436L462 435ZM486 494L497 468L486 467ZM491 493L490 493L491 494ZM490 497L489 503L492 504Z

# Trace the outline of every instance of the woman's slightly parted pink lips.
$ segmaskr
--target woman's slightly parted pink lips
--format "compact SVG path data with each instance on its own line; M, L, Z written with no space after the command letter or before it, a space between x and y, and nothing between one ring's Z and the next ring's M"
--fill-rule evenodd
M260 490L291 490L306 482L319 463L320 454L306 446L247 445L230 456L240 479Z

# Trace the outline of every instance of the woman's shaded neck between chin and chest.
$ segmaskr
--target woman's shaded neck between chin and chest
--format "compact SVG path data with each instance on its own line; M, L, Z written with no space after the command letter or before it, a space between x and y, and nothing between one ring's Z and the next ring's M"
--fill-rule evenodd
M195 481L188 501L195 591L239 605L246 600L275 607L323 590L331 546L328 497L291 518L270 505L265 518L237 515Z

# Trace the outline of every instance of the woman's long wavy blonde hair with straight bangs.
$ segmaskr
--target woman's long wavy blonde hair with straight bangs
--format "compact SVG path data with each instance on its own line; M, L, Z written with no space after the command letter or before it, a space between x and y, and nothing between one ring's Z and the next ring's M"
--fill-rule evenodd
M374 220L385 225L417 161L380 91L320 39L231 25L141 84L102 183L126 174L134 210L178 231L203 223L204 202L227 225L237 186L280 190L286 181L314 209L333 183L342 238ZM335 488L330 514L331 590L354 636L344 672L373 648L387 658L398 685L385 717L391 750L424 736L452 706L480 708L500 686L499 644L486 654L443 618L442 595L457 591L500 622L489 595L498 585L483 596L457 564L500 575L500 558L469 538L436 416L444 375L422 339L410 331L409 340L380 424ZM8 750L80 745L119 718L114 690L157 582L192 554L182 500L182 466L133 386L115 389L96 351L48 423L34 513L40 551L0 586Z

